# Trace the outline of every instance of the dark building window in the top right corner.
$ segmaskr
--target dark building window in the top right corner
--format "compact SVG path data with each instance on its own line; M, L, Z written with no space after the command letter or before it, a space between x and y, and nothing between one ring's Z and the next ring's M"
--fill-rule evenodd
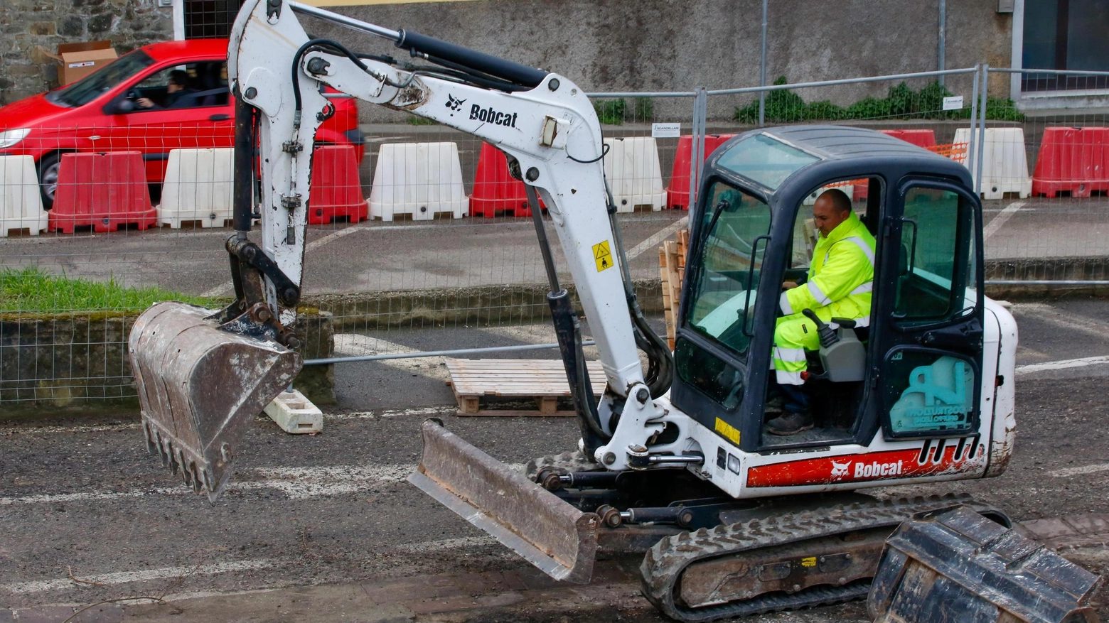
M1028 69L1109 71L1109 0L1025 0ZM1109 89L1109 78L1025 73L1021 91Z

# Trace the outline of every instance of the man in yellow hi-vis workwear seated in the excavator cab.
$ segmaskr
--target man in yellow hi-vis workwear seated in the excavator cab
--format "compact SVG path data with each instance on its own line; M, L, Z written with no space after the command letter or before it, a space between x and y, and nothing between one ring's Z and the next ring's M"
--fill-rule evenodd
M813 221L821 235L808 275L802 284L782 284L784 292L779 299L783 316L774 328L774 376L782 392L783 412L766 422L767 432L774 435L796 435L813 428L810 396L801 386L808 367L805 350L820 349L820 337L816 325L801 312L812 309L825 323L833 317L855 320L858 327L871 323L874 236L838 188L825 191L816 200Z

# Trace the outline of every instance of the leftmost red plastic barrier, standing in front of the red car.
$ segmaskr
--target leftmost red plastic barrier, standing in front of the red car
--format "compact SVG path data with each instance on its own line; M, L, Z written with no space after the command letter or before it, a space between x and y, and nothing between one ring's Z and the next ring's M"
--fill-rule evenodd
M74 227L87 225L94 232L114 232L120 225L157 226L142 153L62 155L50 231L72 234Z

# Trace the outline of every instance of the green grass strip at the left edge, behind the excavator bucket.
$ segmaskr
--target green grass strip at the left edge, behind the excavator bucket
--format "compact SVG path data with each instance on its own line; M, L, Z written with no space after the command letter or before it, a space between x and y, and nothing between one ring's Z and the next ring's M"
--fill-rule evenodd
M218 300L159 287L123 287L108 282L71 279L35 266L0 269L0 313L141 312L159 300L181 300L214 307Z

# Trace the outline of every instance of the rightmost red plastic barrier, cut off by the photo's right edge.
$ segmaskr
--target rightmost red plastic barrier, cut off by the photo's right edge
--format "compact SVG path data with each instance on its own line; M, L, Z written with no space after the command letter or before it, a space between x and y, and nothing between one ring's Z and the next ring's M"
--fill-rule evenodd
M1109 127L1045 129L1032 194L1088 197L1095 191L1109 191Z

